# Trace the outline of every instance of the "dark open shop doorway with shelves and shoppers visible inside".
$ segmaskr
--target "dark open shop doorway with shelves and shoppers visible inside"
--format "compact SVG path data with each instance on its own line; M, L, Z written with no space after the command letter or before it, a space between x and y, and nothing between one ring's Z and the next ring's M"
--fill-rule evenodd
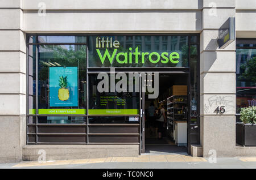
M144 108L145 153L187 153L188 75L159 74L159 96Z

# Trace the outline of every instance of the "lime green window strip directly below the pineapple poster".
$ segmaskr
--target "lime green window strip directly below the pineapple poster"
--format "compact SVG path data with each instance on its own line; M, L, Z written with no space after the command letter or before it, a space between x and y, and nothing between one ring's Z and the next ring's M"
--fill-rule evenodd
M85 109L38 109L38 114L86 114Z

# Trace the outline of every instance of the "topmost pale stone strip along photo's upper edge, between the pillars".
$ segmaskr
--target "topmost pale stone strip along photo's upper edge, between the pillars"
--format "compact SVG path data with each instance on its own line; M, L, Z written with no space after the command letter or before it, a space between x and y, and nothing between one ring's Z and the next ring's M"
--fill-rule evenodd
M112 0L112 1L93 1L93 0L76 0L76 3L73 3L69 0L23 0L23 10L38 10L38 5L40 2L46 4L47 10L141 10L141 9L201 9L202 1L198 0Z

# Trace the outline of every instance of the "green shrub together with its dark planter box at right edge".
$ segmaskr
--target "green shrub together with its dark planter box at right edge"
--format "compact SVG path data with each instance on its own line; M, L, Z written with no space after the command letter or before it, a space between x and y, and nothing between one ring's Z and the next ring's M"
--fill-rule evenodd
M245 146L256 146L256 106L242 108L241 123L236 125L236 142Z

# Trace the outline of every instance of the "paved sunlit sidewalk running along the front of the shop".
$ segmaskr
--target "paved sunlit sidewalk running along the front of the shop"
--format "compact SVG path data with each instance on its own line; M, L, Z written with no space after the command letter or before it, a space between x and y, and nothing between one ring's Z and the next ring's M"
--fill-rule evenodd
M217 158L216 163L208 158L188 155L141 155L139 157L108 157L83 160L59 160L0 164L1 168L108 168L108 169L164 169L164 168L256 168L256 157Z

